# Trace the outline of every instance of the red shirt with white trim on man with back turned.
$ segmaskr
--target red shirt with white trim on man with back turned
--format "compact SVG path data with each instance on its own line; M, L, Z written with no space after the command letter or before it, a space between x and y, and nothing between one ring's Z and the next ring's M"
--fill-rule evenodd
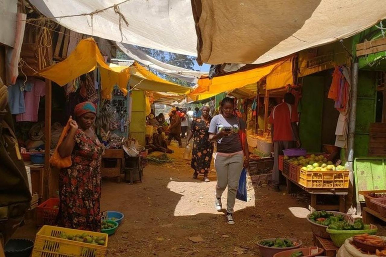
M294 134L292 131L292 122L298 122L298 109L295 105L292 106L291 117L289 115L289 108L287 103L283 102L271 111L269 116L269 123L273 124L273 141L294 141ZM273 118L274 112L274 118Z

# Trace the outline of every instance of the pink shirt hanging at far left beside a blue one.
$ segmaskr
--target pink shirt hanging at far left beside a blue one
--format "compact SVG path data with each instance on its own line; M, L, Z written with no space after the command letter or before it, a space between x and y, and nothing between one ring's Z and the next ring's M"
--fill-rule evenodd
M40 97L46 95L46 84L40 79L31 79L34 83L31 91L24 92L26 112L16 116L16 121L38 121Z

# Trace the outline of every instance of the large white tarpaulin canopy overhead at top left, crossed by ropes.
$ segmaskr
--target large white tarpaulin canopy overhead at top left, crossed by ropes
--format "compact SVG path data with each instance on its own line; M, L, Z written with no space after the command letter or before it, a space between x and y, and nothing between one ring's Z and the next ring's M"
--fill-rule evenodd
M125 0L31 0L46 17L89 14ZM167 52L197 56L190 0L130 0L118 5L129 26L110 8L90 16L53 19L78 33ZM91 26L92 25L92 29Z

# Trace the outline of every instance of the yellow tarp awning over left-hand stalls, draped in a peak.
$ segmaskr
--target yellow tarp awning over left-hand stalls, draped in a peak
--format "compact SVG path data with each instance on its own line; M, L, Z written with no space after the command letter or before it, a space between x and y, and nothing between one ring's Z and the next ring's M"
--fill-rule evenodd
M42 69L38 75L64 86L80 75L100 68L102 98L111 99L114 86L127 95L128 84L146 91L187 94L190 89L179 86L148 71L138 63L132 66L108 65L92 38L81 40L72 53L62 62Z

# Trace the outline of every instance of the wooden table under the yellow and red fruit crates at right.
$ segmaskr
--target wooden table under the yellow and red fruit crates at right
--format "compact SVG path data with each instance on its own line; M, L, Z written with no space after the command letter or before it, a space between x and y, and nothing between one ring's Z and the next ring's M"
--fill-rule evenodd
M292 187L293 185L296 185L311 195L311 204L309 206L311 212L316 210L329 210L329 211L338 210L340 212L345 212L345 195L348 195L347 188L342 188L342 189L307 188L299 184L297 181L290 179L284 173L282 173L282 175L285 177L287 182L288 194L292 193ZM339 204L318 204L317 202L318 195L338 195Z

